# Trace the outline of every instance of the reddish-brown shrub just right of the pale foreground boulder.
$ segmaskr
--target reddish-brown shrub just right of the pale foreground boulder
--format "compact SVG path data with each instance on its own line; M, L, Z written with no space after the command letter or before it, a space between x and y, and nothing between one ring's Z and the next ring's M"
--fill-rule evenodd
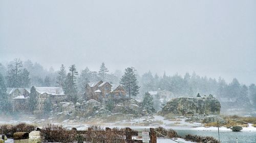
M76 131L67 130L62 125L46 124L41 129L41 136L46 142L73 142Z

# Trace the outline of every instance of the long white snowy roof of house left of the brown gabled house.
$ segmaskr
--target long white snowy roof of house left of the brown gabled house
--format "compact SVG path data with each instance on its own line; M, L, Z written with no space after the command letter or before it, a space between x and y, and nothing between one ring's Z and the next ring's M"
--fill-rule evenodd
M61 87L35 87L35 90L40 94L64 95Z

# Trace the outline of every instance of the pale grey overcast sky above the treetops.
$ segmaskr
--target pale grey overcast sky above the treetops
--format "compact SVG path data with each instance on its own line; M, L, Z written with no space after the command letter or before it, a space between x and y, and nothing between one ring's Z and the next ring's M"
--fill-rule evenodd
M0 62L256 83L256 1L2 1Z

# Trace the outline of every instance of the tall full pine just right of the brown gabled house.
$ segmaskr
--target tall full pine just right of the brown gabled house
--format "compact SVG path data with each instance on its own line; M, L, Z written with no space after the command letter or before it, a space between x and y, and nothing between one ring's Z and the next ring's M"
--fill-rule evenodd
M123 85L129 97L139 94L139 86L137 85L137 78L133 68L126 68L124 75L121 77L120 84Z

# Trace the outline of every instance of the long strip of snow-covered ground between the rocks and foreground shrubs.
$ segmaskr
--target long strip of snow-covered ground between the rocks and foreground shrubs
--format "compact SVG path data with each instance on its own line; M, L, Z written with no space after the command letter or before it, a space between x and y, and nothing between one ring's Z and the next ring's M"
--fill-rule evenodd
M31 118L34 119L34 118ZM87 128L91 125L98 125L102 127L130 127L133 129L149 129L149 128L155 128L155 127L164 127L166 129L172 128L174 130L205 130L205 131L217 131L217 127L203 127L201 123L193 122L185 122L186 118L177 118L177 119L165 119L162 116L151 116L151 117L142 117L142 118L137 118L137 119L127 119L127 120L121 120L121 121L116 121L116 122L105 122L102 120L93 120L93 122L84 122L84 123L72 123L69 121L65 121L62 123L56 123L52 122L53 124L62 124L66 126L67 128L77 128L78 130L87 130ZM19 120L13 120L13 119L0 119L0 124L17 124L20 122L25 122L29 124L36 124L39 127L46 124L45 120L39 120L40 122L38 123L32 123L30 121L30 118L22 118ZM231 129L228 129L226 127L220 127L220 131L231 131ZM242 131L255 131L256 128L252 126L252 124L249 124L248 127L243 127Z

